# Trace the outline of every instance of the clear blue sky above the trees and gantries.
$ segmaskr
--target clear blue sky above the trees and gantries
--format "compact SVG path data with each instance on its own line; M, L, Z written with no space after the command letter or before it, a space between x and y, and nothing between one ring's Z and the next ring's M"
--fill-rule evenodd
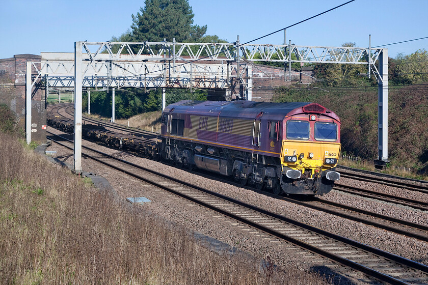
M75 41L107 41L130 28L143 0L0 0L0 59L14 54L73 52ZM251 41L324 12L346 0L189 0L194 23L229 42ZM428 0L356 0L287 30L295 45L358 47L428 37ZM168 40L168 39L167 39ZM170 39L172 40L172 39ZM282 32L257 41L282 44ZM428 39L390 45L388 54L428 49Z

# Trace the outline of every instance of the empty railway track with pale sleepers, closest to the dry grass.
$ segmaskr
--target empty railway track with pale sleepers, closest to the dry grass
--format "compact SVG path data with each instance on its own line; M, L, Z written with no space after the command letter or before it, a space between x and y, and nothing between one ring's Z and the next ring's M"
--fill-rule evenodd
M61 144L66 146L71 143ZM249 231L256 229L280 241L304 248L307 254L314 254L314 262L322 263L334 271L352 276L352 270L355 270L391 284L428 283L428 267L420 263L170 178L140 165L83 148L85 156L232 218L245 225ZM339 264L347 269L341 268Z

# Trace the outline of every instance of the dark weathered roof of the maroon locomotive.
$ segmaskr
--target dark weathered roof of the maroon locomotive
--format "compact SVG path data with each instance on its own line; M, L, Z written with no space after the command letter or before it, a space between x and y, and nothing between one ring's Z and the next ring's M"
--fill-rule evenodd
M256 102L256 101L191 101L183 100L168 105L164 112L174 108L174 112L205 113L207 116L255 118L263 112L265 119L283 119L287 114L297 108L311 104L310 102ZM328 110L329 111L329 110ZM338 120L337 116L331 112Z

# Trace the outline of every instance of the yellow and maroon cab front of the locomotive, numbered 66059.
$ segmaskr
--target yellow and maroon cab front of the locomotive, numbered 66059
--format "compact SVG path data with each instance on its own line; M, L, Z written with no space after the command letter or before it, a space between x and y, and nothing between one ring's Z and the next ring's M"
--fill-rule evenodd
M289 194L328 193L340 178L335 171L341 147L337 116L324 107L312 107L286 118L284 125L280 157L282 190Z

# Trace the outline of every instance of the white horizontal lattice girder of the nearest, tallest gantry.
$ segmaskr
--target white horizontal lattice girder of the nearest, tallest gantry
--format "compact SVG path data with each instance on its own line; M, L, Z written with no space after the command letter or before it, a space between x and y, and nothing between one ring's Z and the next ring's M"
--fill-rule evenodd
M91 53L90 46L95 46L94 53ZM237 54L235 43L84 42L84 47L90 61L102 60L105 55L113 61L120 61L124 57L128 61L140 61L141 56L145 56L148 61L179 60L180 58L186 58L189 61L236 61ZM113 52L113 47L118 47L118 51ZM374 63L382 51L382 48L370 49L371 52L368 52L368 48L359 47L291 45L289 52L288 45L272 44L243 44L239 48L248 61L288 62L291 52L297 56L297 59L292 62L352 64L368 64L366 58L368 53L370 53L371 63ZM127 54L122 54L123 51Z

